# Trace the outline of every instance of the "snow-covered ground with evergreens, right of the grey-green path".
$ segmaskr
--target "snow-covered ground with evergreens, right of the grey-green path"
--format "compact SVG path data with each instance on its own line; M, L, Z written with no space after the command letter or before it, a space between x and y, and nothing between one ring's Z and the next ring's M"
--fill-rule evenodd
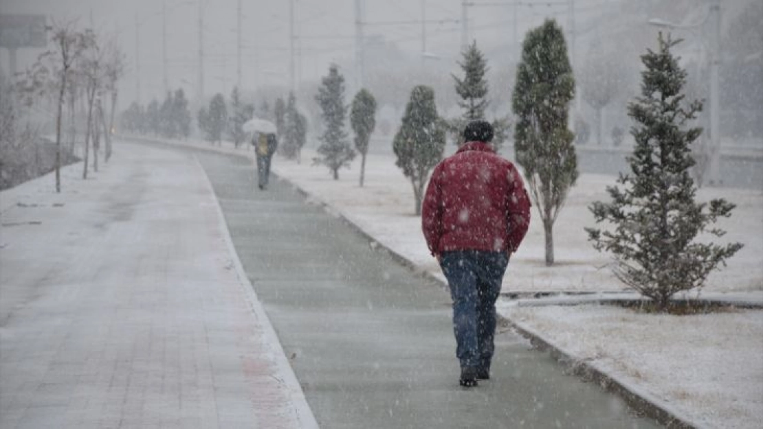
M206 142L185 142L210 148ZM452 151L452 148L449 148ZM226 152L239 152L232 146ZM302 162L275 157L273 171L311 195L327 210L349 219L378 242L443 279L429 255L414 216L410 182L389 155L369 155L365 186L359 187L359 159L334 181L327 168L313 166L314 152ZM607 200L613 177L582 174L555 224L554 267L546 267L538 215L520 251L510 262L504 293L565 292L610 296L627 291L607 268L607 255L594 251L584 226L593 226L588 205ZM725 197L738 206L720 225L724 239L745 244L714 273L700 296L763 302L763 192L703 189L699 198ZM444 279L443 279L444 280ZM591 295L586 295L591 298ZM697 296L691 293L690 296ZM604 370L642 395L660 402L699 427L759 427L763 421L763 310L709 315L642 315L614 306L552 300L501 299L505 317L536 332L566 354ZM546 305L537 306L536 304Z

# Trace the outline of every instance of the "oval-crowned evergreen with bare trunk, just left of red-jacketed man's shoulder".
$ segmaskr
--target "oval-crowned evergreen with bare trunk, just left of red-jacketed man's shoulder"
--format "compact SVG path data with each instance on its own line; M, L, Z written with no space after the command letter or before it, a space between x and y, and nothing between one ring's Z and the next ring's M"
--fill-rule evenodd
M445 126L437 115L434 90L419 85L410 92L410 101L400 130L394 136L395 162L414 188L415 213L421 214L421 201L430 171L443 158Z

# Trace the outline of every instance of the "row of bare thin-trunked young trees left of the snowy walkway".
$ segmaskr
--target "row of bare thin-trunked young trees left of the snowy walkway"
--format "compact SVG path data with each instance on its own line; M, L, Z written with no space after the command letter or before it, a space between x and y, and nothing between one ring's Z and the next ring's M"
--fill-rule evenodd
M74 23L56 24L48 30L53 48L40 55L16 83L26 107L56 104L56 192L61 191L60 167L64 114L69 121L69 139L76 141L77 104L85 101L85 142L82 178L87 178L89 151L98 171L101 136L105 140L105 162L111 156L111 130L118 98L118 81L124 75L124 53L114 40ZM110 107L109 107L110 104Z

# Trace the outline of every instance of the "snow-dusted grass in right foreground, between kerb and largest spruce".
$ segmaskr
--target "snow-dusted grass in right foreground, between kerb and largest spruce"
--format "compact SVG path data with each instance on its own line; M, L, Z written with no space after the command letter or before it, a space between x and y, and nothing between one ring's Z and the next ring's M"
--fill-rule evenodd
M617 306L501 306L566 354L703 427L759 427L763 311L636 313Z

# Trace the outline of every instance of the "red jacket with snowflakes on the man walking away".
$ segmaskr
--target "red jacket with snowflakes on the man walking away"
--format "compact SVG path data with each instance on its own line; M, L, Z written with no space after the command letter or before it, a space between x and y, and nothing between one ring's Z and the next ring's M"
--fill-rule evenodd
M433 255L517 251L530 226L522 176L485 142L467 142L432 172L421 225Z

